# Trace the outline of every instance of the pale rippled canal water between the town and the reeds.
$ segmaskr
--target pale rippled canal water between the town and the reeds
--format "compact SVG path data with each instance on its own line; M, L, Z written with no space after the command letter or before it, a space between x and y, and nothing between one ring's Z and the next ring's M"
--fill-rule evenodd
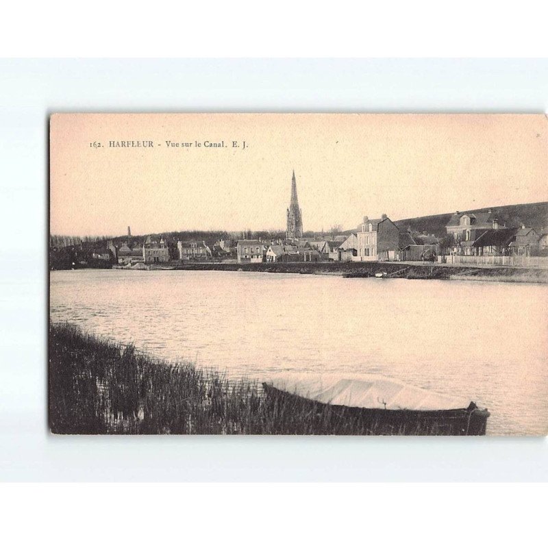
M548 430L548 287L215 271L51 273L50 318L231 376L378 374Z

